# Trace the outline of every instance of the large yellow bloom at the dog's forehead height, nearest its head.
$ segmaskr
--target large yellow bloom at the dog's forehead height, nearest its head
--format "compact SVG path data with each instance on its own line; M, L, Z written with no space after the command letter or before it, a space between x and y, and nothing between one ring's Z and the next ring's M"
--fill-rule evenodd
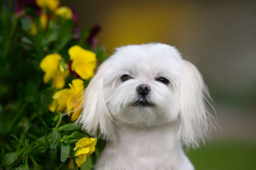
M94 75L97 66L96 54L74 45L68 50L72 60L71 70L75 71L82 79L88 79Z

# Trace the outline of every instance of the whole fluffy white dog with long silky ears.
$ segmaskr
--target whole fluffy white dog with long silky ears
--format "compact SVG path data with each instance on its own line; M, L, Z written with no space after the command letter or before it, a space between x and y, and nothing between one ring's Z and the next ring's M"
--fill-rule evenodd
M89 83L77 121L107 140L95 169L193 170L182 144L197 147L208 135L207 98L201 74L174 47L117 48Z

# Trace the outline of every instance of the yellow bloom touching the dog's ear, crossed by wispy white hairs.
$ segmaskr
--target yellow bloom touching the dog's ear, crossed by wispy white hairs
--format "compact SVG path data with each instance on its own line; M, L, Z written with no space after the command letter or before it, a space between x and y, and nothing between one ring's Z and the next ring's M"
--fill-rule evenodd
M70 96L67 99L67 115L70 116L71 121L76 121L81 114L81 104L83 102L84 82L81 79L72 80L70 87Z

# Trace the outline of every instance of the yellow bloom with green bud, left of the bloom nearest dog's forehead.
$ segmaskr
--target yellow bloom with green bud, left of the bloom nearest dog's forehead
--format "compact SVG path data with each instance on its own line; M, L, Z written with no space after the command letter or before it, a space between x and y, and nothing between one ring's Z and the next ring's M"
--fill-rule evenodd
M53 53L45 56L40 63L40 68L45 72L44 82L48 83L51 79L54 79L53 87L57 89L61 89L64 87L65 78L69 74L68 69L66 69L64 73L61 73L58 70L61 59L62 57L59 54ZM65 66L68 67L67 64L65 64Z

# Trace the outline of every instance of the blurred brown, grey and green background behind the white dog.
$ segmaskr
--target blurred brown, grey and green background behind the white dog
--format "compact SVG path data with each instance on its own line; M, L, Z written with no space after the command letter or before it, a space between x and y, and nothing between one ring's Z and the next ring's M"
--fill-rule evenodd
M127 44L176 46L203 74L220 128L186 153L196 170L252 170L256 160L256 1L84 1L79 26L101 26L111 54Z

